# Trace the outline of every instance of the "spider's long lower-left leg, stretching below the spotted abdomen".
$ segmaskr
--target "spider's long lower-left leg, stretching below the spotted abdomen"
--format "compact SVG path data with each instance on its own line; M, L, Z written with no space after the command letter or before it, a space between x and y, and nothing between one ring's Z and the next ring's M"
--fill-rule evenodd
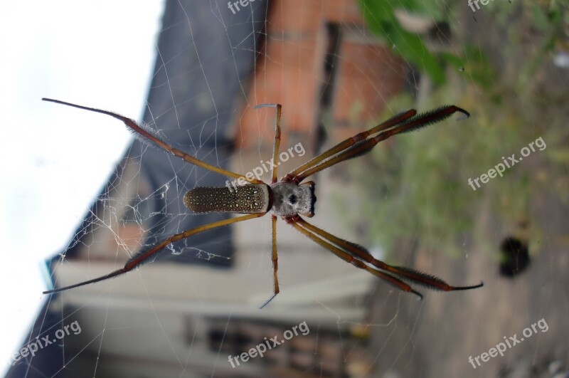
M150 248L148 251L141 251L124 264L123 268L117 269L117 271L113 271L107 275L102 275L101 277L93 278L92 280L86 280L80 283L75 283L75 285L65 286L63 288L56 288L53 290L46 290L43 294L53 294L59 293L60 291L69 290L72 288L78 288L79 286L88 285L89 283L100 282L103 280L107 280L112 277L117 277L117 275L121 275L123 273L127 273L132 271L132 269L137 268L137 266L141 266L143 263L146 263L151 256L156 255L162 248L169 245L170 243L174 243L175 241L180 241L185 238L189 238L190 236L196 235L196 233L201 233L203 231L208 231L211 229L217 229L221 226L227 226L228 224L233 224L240 221L246 221L248 219L258 218L260 216L265 215L266 213L258 213L258 214L247 214L243 216L238 216L236 218L230 219L223 219L222 221L212 222L210 224L204 224L203 226L194 227L193 229L186 230L182 233L176 233L176 235L170 236L164 241L156 244L156 246Z

